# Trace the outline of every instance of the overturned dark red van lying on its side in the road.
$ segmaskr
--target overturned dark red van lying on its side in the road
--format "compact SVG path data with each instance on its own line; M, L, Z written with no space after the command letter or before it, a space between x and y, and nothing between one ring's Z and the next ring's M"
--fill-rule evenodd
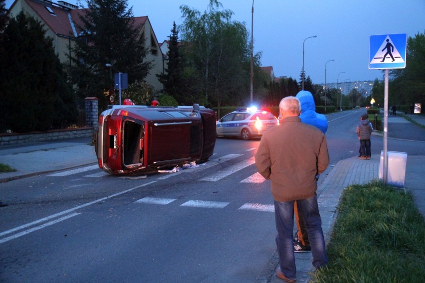
M214 151L215 112L198 104L114 105L100 115L95 136L99 167L110 174L205 161Z

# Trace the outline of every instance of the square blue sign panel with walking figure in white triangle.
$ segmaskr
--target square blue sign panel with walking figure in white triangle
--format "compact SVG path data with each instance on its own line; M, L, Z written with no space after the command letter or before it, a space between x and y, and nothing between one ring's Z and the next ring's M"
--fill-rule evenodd
M406 68L407 34L371 35L369 69Z

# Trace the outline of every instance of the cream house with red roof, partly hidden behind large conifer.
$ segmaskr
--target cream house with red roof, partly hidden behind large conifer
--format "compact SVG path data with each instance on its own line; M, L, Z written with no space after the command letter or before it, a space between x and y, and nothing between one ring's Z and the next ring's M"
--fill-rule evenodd
M83 25L79 15L84 15L84 10L65 1L14 0L9 8L9 16L14 17L20 11L24 11L26 16L31 16L44 24L46 36L53 39L54 50L59 60L70 64L68 55L71 54L75 39L78 37L78 26ZM155 32L147 16L135 17L134 24L138 27L137 39L144 38L145 49L148 51L145 60L151 61L153 66L146 77L146 82L156 90L162 90L164 87L156 74L164 72L164 54Z

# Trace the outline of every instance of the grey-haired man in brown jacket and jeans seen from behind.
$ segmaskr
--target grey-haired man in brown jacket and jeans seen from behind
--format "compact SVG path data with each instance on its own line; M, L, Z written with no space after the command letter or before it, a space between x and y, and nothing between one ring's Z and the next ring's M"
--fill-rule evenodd
M280 101L281 124L261 137L255 154L258 172L271 180L276 222L279 267L276 276L296 282L293 246L294 201L302 215L310 240L314 268L328 262L325 239L317 204L316 175L329 165L325 135L317 128L301 123L300 102L293 96Z

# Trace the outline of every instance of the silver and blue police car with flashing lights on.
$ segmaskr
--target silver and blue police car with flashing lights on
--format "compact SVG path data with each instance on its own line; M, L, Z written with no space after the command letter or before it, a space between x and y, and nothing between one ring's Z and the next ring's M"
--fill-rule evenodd
M268 129L279 125L279 120L267 111L256 108L238 108L216 123L217 137L233 136L250 140L261 137Z

